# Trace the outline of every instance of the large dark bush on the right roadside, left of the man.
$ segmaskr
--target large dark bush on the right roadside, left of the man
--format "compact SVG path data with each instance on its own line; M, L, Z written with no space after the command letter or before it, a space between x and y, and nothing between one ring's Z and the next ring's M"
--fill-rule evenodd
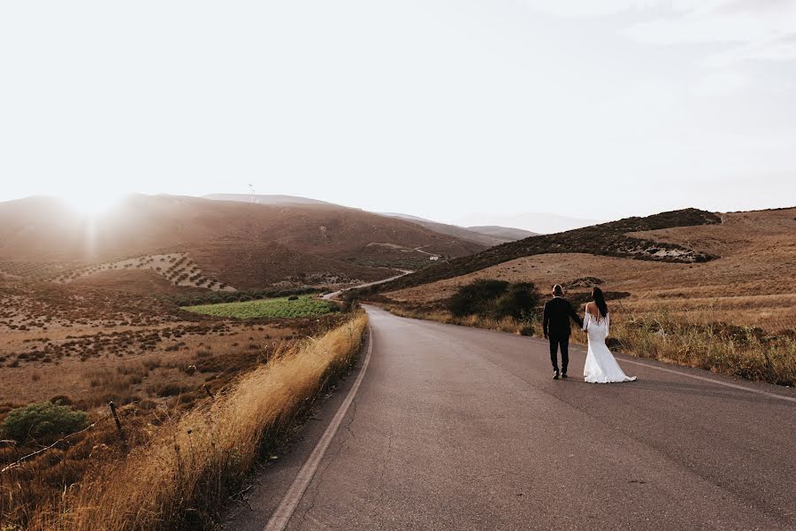
M448 310L455 317L479 315L528 320L536 318L538 306L539 292L532 282L474 281L448 299Z

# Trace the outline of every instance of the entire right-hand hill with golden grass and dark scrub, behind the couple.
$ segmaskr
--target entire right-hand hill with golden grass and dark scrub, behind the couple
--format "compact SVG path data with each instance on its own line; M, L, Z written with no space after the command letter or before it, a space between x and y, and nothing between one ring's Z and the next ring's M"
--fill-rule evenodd
M478 279L532 281L543 295L562 283L576 302L600 285L628 314L677 314L792 334L794 234L796 208L665 212L509 243L379 289L397 304L428 309Z

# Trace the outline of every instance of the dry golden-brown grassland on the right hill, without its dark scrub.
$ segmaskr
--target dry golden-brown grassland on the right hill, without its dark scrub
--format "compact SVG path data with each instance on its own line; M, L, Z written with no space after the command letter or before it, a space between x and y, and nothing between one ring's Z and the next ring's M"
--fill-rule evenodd
M563 283L568 296L580 301L599 284L608 292L624 293L624 298L612 304L625 312L685 313L700 321L792 330L796 208L723 213L716 218L720 222L629 233L655 242L661 249L662 245L676 245L677 249L693 250L696 256L711 258L707 261L662 262L562 246L416 287L394 286L386 295L397 302L429 308L463 284L498 279L532 281L543 293L554 283Z

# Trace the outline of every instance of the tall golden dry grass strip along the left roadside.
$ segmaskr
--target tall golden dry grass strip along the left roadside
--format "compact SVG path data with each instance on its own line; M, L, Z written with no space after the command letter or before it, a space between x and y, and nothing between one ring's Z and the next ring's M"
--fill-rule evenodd
M358 314L241 377L224 395L161 427L151 441L107 466L42 512L42 531L149 531L211 527L264 442L283 433L325 384L356 358L367 317Z

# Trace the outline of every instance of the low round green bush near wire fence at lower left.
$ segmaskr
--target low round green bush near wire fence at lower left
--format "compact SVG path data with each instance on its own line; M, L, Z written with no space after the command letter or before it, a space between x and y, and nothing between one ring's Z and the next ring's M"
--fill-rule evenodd
M67 405L51 402L11 410L3 421L5 435L18 443L24 443L28 438L42 440L69 435L87 426L85 412L75 412Z

